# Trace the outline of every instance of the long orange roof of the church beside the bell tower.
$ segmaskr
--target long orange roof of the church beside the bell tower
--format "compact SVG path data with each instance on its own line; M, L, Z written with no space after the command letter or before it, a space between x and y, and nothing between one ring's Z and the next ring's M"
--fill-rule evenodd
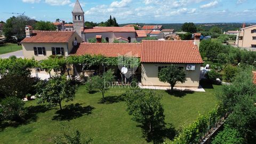
M93 27L89 29L84 29L84 33L106 33L106 32L113 32L113 33L135 33L134 27Z

